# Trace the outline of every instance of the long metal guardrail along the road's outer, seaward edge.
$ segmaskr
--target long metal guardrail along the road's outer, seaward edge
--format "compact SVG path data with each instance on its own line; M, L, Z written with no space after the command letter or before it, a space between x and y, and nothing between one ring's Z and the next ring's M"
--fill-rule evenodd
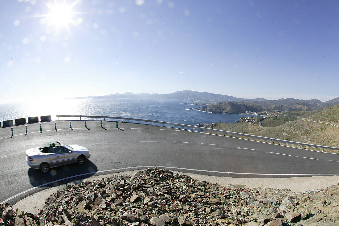
M251 137L251 138L256 138L256 139L261 139L261 140L270 140L270 141L275 141L275 142L281 142L281 143L288 143L288 144L295 144L295 145L302 145L302 146L308 146L308 147L317 147L317 148L322 148L322 149L330 149L330 150L338 150L339 147L329 147L329 146L322 146L322 145L317 145L317 144L307 144L307 143L300 143L300 142L295 142L295 141L288 141L288 140L280 140L280 139L275 139L275 138L269 138L269 137L260 137L260 136L255 136L255 135L250 135L250 134L242 134L242 133L236 133L236 132L231 132L231 131L224 131L224 130L219 130L219 129L211 129L211 128L205 128L205 127L200 127L200 126L193 126L193 125L185 125L185 124L179 124L179 123L172 123L172 122L162 122L162 121L155 121L155 120L148 120L148 119L134 119L134 118L126 118L126 117L112 117L112 116L88 116L88 115L57 115L56 116L59 120L59 117L64 117L64 118L102 118L102 119L120 119L120 120L128 120L128 122L131 121L139 121L139 122L151 122L156 125L158 124L163 124L163 125L172 125L172 126L179 126L181 128L192 128L192 129L200 129L200 130L205 130L205 131L213 131L213 132L219 132L219 133L225 133L225 134L232 134L240 137Z

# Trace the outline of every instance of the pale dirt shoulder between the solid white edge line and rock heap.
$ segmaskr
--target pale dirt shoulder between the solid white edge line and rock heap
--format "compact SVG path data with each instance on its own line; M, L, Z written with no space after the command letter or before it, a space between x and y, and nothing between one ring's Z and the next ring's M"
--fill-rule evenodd
M92 176L83 181L94 181L102 178L112 177L114 175L133 175L134 171L125 171L107 175ZM175 172L175 171L173 171ZM191 173L181 173L190 176L196 180L204 180L211 184L218 184L228 188L274 188L274 189L289 189L291 192L307 192L313 190L326 189L332 185L338 184L339 176L312 176L312 177L292 177L292 178L232 178L232 177L217 177ZM75 184L71 182L69 184ZM68 184L68 185L69 185ZM37 214L45 204L46 198L51 196L57 190L66 185L45 189L30 195L13 206L13 209L24 210L33 214Z

